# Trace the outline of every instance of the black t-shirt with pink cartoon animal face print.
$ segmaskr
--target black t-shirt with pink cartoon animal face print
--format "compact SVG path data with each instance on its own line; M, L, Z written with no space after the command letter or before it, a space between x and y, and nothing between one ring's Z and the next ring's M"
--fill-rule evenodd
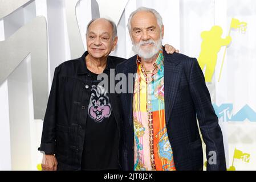
M117 123L108 93L97 81L97 74L88 70L92 78L91 97L87 110L82 170L119 169Z

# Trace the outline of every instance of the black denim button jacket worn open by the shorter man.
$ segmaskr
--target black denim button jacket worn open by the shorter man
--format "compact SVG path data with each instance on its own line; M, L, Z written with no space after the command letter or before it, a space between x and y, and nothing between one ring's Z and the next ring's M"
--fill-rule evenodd
M58 169L79 170L92 80L86 68L85 52L82 57L66 61L56 67L43 122L43 133L38 150L55 154ZM107 68L115 69L124 61L108 56ZM104 71L104 72L105 72ZM122 116L118 94L109 94L117 128L121 130Z

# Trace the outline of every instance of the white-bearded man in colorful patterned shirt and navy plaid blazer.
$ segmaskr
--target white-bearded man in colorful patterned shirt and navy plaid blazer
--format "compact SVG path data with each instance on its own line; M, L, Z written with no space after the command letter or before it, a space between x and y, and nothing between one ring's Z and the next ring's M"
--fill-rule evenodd
M226 170L222 131L214 113L204 75L196 59L162 47L161 15L141 7L128 20L137 55L117 65L132 81L122 93L123 170L202 170L202 142L208 170ZM129 91L129 82L124 88Z

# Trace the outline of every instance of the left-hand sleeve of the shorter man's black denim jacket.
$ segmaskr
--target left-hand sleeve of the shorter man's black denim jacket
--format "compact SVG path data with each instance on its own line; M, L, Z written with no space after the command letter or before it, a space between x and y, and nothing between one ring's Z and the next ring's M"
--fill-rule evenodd
M54 78L52 81L51 92L48 98L46 114L43 121L43 132L41 144L38 148L45 154L55 154L55 130L56 115L58 113L58 96L59 96L59 67L55 68Z

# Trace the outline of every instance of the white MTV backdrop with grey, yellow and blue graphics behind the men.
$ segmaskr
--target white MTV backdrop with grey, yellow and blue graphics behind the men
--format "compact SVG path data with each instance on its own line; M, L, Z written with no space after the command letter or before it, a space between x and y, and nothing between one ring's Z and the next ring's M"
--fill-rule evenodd
M86 51L87 23L99 17L117 24L111 55L133 56L127 22L141 6L161 14L164 44L197 58L228 170L256 170L254 0L0 0L0 170L40 170L37 148L55 67Z

